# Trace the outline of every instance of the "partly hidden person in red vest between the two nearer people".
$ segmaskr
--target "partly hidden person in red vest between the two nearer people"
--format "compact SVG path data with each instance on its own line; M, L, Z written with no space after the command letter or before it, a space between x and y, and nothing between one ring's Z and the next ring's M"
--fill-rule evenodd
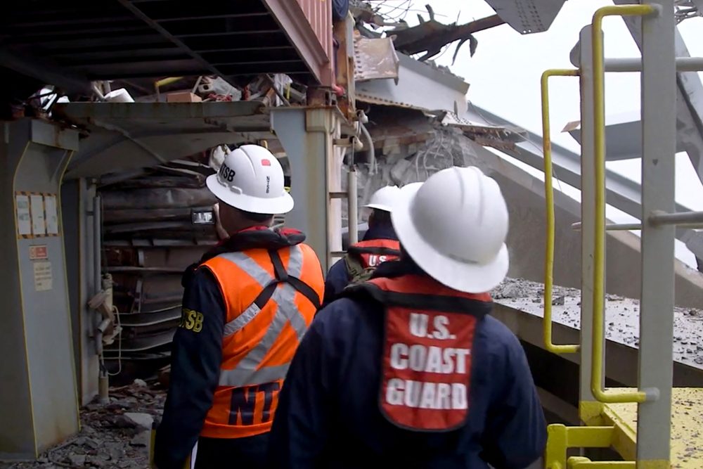
M371 195L364 207L371 210L368 230L363 239L347 248L347 254L335 262L325 278L327 304L349 285L365 280L381 262L398 259L400 244L391 223L393 203L400 193L398 186L384 186ZM349 231L356 227L349 227Z

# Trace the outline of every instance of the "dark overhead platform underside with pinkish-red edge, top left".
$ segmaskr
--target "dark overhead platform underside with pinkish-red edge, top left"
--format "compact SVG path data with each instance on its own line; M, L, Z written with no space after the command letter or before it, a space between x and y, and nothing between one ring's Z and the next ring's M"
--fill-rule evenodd
M330 1L10 2L1 63L65 91L91 80L285 73L331 86Z

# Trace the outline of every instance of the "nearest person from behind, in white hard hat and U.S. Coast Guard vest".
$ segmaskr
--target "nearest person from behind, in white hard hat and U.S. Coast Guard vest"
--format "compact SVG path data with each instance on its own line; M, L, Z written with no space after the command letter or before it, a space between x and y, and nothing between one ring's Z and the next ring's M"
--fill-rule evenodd
M478 168L394 204L401 259L318 311L280 394L276 469L523 469L546 422L520 341L491 316L508 208Z

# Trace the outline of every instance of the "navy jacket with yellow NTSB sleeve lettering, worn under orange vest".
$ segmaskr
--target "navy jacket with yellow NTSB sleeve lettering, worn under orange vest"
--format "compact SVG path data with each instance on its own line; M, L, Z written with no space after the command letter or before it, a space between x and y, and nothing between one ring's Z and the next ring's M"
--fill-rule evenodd
M223 252L237 252L252 248L280 249L302 243L303 233L290 229L269 230L264 227L235 233L231 238L207 252L200 262L183 274L183 311L202 314L197 332L187 328L186 317L176 329L172 344L171 378L161 424L156 431L155 463L159 469L182 469L198 435L205 416L212 407L222 362L222 335L227 311L220 285L209 269L200 268L207 259ZM237 285L224 285L237 288ZM268 435L234 439L226 445L233 458L265 459ZM206 446L212 446L212 444ZM199 451L202 453L203 448ZM258 454L257 454L258 452Z

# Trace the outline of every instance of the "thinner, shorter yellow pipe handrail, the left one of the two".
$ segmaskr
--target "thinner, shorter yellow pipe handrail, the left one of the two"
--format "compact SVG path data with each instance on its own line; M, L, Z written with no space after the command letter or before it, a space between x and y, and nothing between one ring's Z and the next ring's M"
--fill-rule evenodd
M579 70L553 69L542 74L542 153L544 156L544 201L546 204L547 236L544 249L544 347L553 354L575 354L580 345L556 345L552 342L552 288L554 274L554 188L552 184L552 141L549 131L549 77L578 77Z

